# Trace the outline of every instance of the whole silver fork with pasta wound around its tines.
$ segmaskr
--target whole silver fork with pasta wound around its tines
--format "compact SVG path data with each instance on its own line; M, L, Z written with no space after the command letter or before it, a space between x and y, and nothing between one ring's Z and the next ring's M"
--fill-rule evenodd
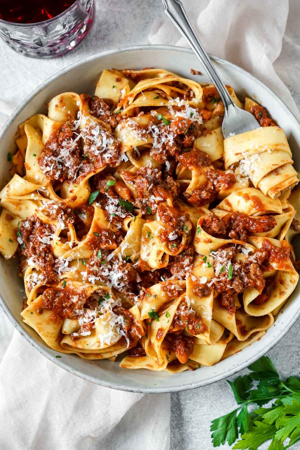
M230 97L228 90L226 89L223 81L219 77L215 67L210 62L210 58L206 53L200 40L197 38L193 27L188 20L188 16L185 13L184 7L179 0L162 0L165 13L174 23L176 28L180 31L185 40L191 46L196 56L201 61L205 68L210 80L217 88L221 100L224 104L224 119L222 124L222 131L224 138L232 135L239 135L245 133L245 131L255 130L260 127L258 121L252 116L250 112L244 109L238 108L233 103L233 99Z

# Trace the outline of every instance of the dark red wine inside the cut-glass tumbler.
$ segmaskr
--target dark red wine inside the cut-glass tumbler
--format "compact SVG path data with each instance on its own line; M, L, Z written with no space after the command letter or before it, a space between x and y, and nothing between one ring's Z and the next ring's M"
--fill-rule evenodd
M0 0L0 19L13 23L36 23L52 19L75 0Z

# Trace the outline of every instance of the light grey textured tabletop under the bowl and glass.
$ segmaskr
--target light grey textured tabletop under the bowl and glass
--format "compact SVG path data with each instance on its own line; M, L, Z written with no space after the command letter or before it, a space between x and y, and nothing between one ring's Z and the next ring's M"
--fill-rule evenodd
M1 67L2 92L0 98L6 100L7 92L11 91L13 71L18 70L19 64L26 68L24 71L26 83L24 82L22 86L22 95L25 98L40 82L74 61L103 50L147 44L148 32L154 18L163 15L161 0L126 0L123 2L120 0L110 0L109 2L96 0L96 6L96 21L89 36L63 58L50 61L29 60L14 54L11 50L11 58L9 61L5 59ZM4 50L4 43L1 41L0 53L2 50ZM36 73L38 73L38 77ZM292 92L292 94L300 107L299 93ZM9 98L12 99L12 103L16 102L17 104L23 99L14 99L11 96ZM268 353L282 376L299 374L299 339L300 321L298 320L285 338ZM246 372L244 370L241 374ZM211 419L228 413L234 407L235 401L225 380L192 391L171 394L170 449L212 449L209 432ZM229 449L230 447L222 448ZM300 446L296 445L293 448L300 449Z

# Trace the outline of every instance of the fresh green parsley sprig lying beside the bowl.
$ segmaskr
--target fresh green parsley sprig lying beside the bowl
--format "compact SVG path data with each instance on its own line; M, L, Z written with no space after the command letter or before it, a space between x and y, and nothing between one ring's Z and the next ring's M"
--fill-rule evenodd
M233 449L257 450L270 439L268 450L290 448L300 441L300 378L289 377L282 381L268 356L261 357L248 369L250 374L239 376L234 382L227 380L238 407L212 421L213 446L225 442L231 446L241 435ZM252 389L254 380L258 384ZM262 408L272 400L275 400L273 405ZM259 405L253 413L248 412L251 403Z

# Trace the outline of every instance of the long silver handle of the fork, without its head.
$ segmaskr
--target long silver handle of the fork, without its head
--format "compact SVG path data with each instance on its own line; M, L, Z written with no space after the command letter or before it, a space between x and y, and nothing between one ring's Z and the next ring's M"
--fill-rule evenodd
M188 16L184 10L184 7L179 0L162 0L164 5L165 13L170 18L170 20L174 23L175 27L180 31L182 36L184 36L185 40L192 47L197 57L201 61L204 66L207 74L210 77L210 80L214 83L217 88L222 102L224 104L225 112L227 114L229 105L233 105L233 99L230 97L228 90L226 89L223 81L219 77L218 72L215 70L215 67L210 62L210 58L206 53L203 45L200 40L197 38L193 27L188 20Z

